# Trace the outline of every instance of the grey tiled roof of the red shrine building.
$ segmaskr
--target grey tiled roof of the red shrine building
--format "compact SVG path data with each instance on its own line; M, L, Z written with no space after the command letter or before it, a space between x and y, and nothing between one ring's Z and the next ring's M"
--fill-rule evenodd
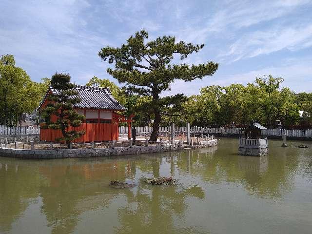
M50 87L39 108L48 97L50 90L55 95L59 94L59 90ZM111 95L109 88L75 85L73 90L76 90L79 98L81 98L81 102L73 105L76 108L108 109L118 111L126 109Z

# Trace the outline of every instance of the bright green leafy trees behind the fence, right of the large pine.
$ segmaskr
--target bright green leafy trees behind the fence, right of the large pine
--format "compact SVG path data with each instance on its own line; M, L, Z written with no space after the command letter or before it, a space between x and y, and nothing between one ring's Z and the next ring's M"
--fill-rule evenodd
M258 120L270 128L281 120L288 127L299 122L296 96L289 88L279 89L282 78L256 78L255 84L208 86L184 104L185 118L197 126L248 124Z

